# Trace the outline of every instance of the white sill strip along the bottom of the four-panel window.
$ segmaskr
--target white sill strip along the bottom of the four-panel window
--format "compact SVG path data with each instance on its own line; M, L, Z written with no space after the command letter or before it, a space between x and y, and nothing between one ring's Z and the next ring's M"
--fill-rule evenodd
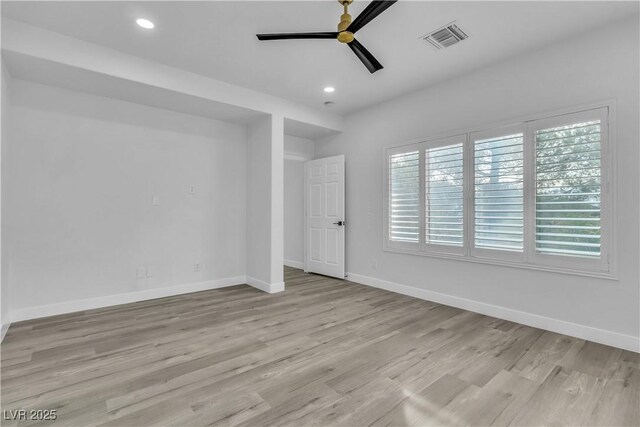
M562 268L562 267L554 267L554 266L539 265L539 264L526 264L522 262L478 258L478 257L469 256L469 255L455 255L455 254L448 254L448 253L424 252L424 251L418 252L415 250L398 249L398 248L386 247L386 246L383 248L383 250L384 252L392 252L392 253L399 253L399 254L405 254L405 255L450 259L450 260L456 260L456 261L473 262L476 264L488 264L488 265L497 265L500 267L520 268L525 270L547 271L551 273L568 274L572 276L593 277L597 279L606 279L606 280L615 280L615 281L618 280L618 276L614 272L610 272L610 271L576 270L571 268Z

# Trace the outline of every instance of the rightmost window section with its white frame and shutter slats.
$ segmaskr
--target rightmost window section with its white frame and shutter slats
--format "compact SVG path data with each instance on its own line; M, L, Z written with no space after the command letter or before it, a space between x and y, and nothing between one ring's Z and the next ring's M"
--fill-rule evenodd
M607 122L598 109L531 124L534 261L607 270Z

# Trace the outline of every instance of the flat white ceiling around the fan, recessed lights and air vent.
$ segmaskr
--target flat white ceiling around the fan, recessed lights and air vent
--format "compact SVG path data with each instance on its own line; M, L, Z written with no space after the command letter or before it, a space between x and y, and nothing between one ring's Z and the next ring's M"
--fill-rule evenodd
M352 16L366 6L356 0ZM334 31L335 0L212 2L2 2L2 15L81 40L346 113L524 54L638 13L637 2L399 1L357 38L384 65L369 74L332 40L260 42L256 33ZM143 30L135 18L155 22ZM451 21L469 39L438 51L420 36ZM324 86L336 92L325 94Z

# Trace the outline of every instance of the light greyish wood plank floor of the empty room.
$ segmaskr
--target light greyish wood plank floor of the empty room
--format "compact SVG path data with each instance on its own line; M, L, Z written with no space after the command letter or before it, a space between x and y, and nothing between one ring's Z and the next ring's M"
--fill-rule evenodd
M2 408L42 425L633 425L638 354L285 269L13 324ZM28 425L3 421L3 425Z

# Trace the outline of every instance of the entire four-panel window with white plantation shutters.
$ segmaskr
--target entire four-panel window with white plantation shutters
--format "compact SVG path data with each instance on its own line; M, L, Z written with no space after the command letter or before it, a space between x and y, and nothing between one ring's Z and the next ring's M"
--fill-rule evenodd
M390 250L607 276L609 107L387 150Z

